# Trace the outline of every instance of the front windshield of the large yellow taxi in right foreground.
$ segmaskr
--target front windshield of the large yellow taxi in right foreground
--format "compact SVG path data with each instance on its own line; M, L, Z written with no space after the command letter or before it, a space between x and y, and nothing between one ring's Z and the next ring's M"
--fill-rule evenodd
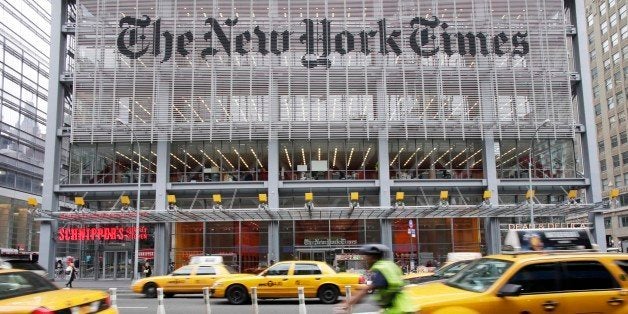
M483 258L472 262L445 284L474 292L484 292L490 288L502 274L512 266L512 262Z

